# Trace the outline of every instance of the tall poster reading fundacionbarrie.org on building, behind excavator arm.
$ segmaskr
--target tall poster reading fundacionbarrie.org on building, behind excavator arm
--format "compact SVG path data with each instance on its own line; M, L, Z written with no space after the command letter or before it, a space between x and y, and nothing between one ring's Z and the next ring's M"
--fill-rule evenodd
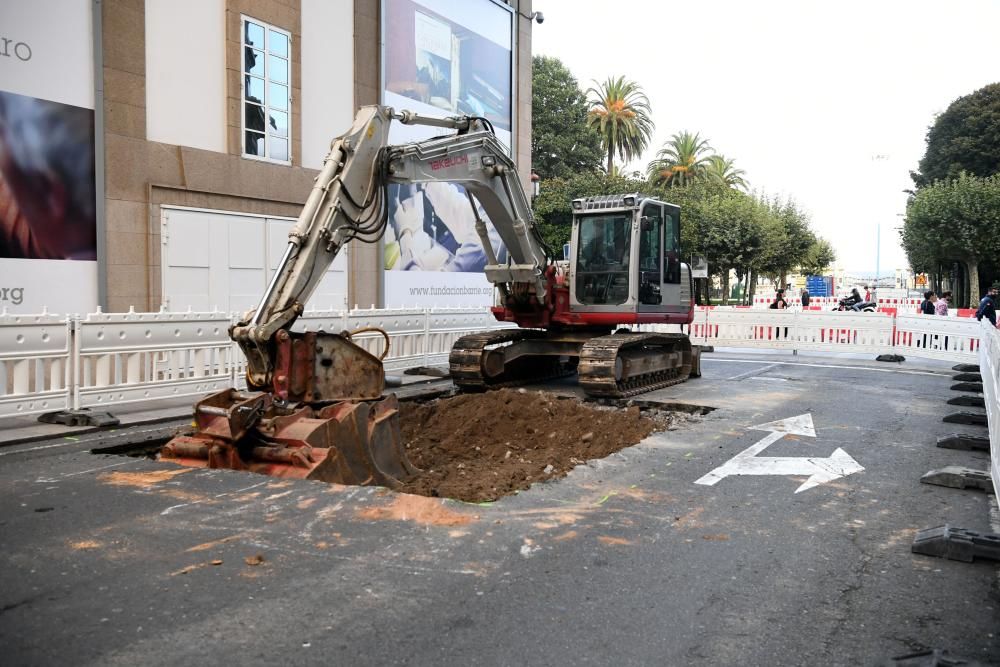
M513 132L513 19L492 0L385 0L383 103L436 117L487 118L508 148ZM440 128L393 124L389 140ZM484 220L489 218L477 206ZM385 305L488 306L486 252L465 190L451 183L393 185L383 244ZM506 249L489 226L498 259Z

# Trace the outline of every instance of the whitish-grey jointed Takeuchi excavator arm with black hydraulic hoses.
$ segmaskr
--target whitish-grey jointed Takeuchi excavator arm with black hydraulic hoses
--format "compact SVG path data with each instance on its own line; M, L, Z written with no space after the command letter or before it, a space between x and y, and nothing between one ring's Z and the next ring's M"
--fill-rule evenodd
M391 146L389 126L430 125L457 134ZM274 341L302 313L327 268L344 244L375 243L388 220L390 183L446 182L463 186L476 217L476 234L487 256L485 274L505 297L545 303L548 258L535 229L528 199L513 161L488 121L474 117L429 118L381 106L362 107L351 129L335 139L288 246L258 306L230 330L247 357L253 387L271 384ZM484 220L483 206L508 249L500 264Z

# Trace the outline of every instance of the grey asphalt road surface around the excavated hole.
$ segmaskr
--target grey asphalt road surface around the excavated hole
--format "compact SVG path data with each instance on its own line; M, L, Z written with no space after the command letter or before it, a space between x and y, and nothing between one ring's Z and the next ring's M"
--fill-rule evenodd
M919 483L988 467L934 446L985 432L941 422L948 365L704 371L643 398L710 414L486 505L91 454L100 435L0 449L2 661L1000 663L997 565L910 552L993 530L992 496Z

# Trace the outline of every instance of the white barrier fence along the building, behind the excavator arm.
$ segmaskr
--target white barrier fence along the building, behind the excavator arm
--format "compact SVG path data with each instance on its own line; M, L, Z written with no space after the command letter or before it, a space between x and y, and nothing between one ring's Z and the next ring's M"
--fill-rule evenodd
M220 312L0 314L0 417L245 387L246 362L229 338L234 321ZM385 368L398 372L447 363L460 336L509 326L483 308L355 309L306 312L295 329L383 329ZM375 332L354 340L375 355L385 346Z

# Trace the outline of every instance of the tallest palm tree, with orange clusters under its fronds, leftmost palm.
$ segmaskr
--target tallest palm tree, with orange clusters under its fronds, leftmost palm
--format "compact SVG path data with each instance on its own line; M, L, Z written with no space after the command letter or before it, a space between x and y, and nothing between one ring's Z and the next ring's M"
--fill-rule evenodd
M642 86L624 76L609 77L587 89L587 126L597 130L608 152L608 173L615 155L624 162L639 157L653 136L652 111Z

